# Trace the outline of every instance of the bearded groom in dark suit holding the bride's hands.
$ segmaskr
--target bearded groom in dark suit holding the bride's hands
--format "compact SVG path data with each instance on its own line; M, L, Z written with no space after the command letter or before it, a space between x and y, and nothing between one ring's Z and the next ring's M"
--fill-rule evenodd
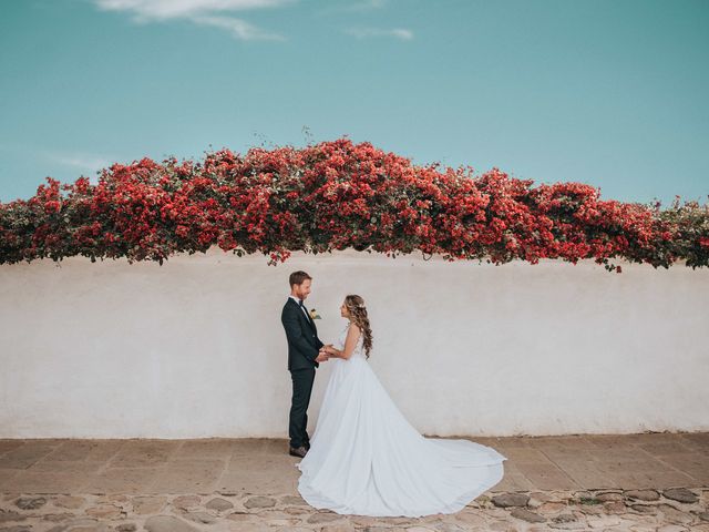
M310 318L304 300L310 294L310 277L305 272L294 272L288 279L290 297L284 305L280 321L288 339L288 371L292 380L292 398L290 401L290 419L288 436L290 437L289 454L304 458L310 449L308 426L308 405L315 380L315 368L328 359L320 348L323 344L318 338L318 330Z

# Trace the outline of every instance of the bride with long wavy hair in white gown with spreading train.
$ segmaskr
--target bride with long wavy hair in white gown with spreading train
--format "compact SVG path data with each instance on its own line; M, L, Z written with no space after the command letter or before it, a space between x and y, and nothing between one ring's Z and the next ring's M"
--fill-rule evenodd
M502 480L503 457L469 440L421 436L369 366L372 331L361 297L340 307L349 324L335 359L311 447L296 464L298 491L314 508L341 514L454 513Z

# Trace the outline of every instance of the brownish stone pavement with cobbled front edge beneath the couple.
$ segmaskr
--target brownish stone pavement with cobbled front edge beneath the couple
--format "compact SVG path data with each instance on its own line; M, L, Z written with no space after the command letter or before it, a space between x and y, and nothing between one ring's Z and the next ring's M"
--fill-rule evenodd
M0 532L709 532L709 433L470 439L504 479L419 519L312 509L287 440L0 440Z

